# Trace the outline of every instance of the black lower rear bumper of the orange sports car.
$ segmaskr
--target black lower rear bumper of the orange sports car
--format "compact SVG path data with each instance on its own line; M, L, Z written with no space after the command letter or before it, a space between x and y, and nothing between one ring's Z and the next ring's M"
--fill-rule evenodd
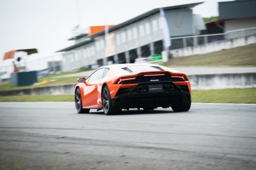
M157 108L175 107L180 103L189 103L189 92L148 92L143 94L127 94L112 99L114 107L128 108Z

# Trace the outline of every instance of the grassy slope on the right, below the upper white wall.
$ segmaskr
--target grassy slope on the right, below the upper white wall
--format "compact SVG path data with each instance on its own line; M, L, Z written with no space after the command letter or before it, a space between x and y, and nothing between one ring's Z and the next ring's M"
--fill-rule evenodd
M256 66L256 44L218 52L171 58L164 66Z

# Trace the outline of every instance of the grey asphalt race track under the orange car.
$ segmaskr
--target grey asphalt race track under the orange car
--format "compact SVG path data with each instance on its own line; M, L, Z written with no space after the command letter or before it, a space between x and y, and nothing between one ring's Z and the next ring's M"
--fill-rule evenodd
M0 169L256 169L256 105L122 113L0 103Z

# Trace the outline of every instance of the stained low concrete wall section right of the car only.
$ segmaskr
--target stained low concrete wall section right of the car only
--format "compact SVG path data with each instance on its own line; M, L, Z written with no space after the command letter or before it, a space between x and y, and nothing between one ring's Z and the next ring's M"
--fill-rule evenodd
M192 90L256 87L256 73L190 75L188 78Z

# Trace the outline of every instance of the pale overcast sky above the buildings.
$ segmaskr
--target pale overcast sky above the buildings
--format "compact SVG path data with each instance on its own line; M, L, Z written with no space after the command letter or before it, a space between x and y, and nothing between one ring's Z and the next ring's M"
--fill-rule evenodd
M10 50L37 48L49 54L75 44L72 29L116 25L154 8L204 2L193 8L201 17L218 16L229 0L1 0L0 61ZM1 62L0 62L1 63Z

